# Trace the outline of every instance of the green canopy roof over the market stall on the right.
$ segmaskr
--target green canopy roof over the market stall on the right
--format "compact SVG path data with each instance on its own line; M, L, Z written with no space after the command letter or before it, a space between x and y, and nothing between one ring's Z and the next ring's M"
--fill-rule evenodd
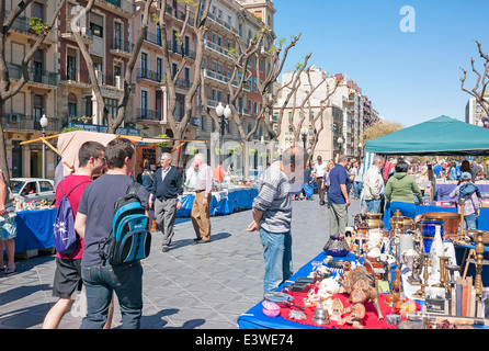
M365 154L489 156L489 129L440 116L366 141Z

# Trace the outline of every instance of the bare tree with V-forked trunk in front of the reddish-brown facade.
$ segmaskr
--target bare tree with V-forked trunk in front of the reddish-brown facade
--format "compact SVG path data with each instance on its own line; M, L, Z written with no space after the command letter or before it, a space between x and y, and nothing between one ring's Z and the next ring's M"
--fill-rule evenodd
M80 47L80 52L83 56L83 59L87 64L87 70L90 76L90 81L92 84L92 90L95 95L96 100L96 106L99 110L99 115L102 116L102 120L107 121L107 133L115 133L115 129L124 122L124 117L126 115L126 109L127 103L130 98L130 93L133 90L133 70L134 66L136 65L136 61L139 57L139 52L143 45L143 41L146 37L146 32L148 30L149 25L149 11L151 9L151 4L153 0L146 0L144 2L144 12L143 12L143 20L141 20L141 26L140 31L137 35L136 42L134 43L134 47L130 52L130 58L126 65L126 69L124 72L124 88L123 88L123 94L117 101L117 115L111 116L109 115L109 110L105 107L105 102L103 100L102 91L100 89L99 80L96 79L95 68L93 65L93 59L90 56L90 52L87 48L87 45L83 42L83 37L81 35L81 25L80 20L83 19L93 8L94 0L89 0L87 3L87 7L80 11L72 20L71 22L71 30L73 32L75 38L78 43L78 46Z

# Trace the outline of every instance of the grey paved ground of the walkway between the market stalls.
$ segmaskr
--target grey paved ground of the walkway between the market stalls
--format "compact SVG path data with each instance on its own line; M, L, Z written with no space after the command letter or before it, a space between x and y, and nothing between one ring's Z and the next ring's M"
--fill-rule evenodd
M353 201L352 215L360 208ZM177 218L172 248L161 252L153 233L151 254L143 261L143 329L237 329L238 317L263 294L263 249L258 233L248 233L251 212L212 217L212 242L194 245L190 218ZM316 257L329 237L328 208L317 195L295 201L293 263L297 271ZM39 329L56 302L52 296L55 256L15 261L18 273L0 273L0 329ZM83 291L59 329L78 329L84 314ZM115 302L113 328L121 327Z

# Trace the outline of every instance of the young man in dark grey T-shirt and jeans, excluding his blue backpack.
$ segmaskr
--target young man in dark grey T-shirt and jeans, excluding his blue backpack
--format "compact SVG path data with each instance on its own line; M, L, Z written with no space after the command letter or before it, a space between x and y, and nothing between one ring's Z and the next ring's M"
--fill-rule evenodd
M126 138L115 138L105 148L107 172L90 183L80 199L75 229L84 239L81 279L86 286L87 316L81 329L101 329L107 318L112 294L121 305L122 328L139 329L143 312L143 268L139 261L111 265L101 258L99 246L111 235L115 202L133 183L136 149ZM148 193L139 186L137 195L151 218Z

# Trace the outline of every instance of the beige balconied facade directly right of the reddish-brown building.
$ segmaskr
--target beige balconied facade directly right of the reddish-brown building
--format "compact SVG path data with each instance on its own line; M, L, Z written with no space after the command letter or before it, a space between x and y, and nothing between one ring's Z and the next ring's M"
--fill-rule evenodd
M143 5L137 5L133 26L134 38L136 38L140 30L143 10ZM155 20L159 18L160 11L164 11L164 20L168 27L167 43L162 43L162 33L158 21ZM133 75L135 103L130 121L136 123L137 128L141 131L141 135L157 136L164 134L169 137L173 136L173 132L168 123L168 114L170 113L168 111L168 100L170 97L164 81L168 77L174 77L180 64L182 60L185 60L183 71L177 79L177 109L173 113L177 122L183 117L184 99L195 73L196 36L193 27L194 15L194 12L191 11L191 20L187 23L185 33L182 37L179 37L186 16L185 7L177 0L153 2L150 11L149 27ZM183 44L183 48L181 44ZM164 46L169 50L170 72L166 71L163 65L162 50L166 48ZM191 114L195 115L195 112L192 111ZM195 129L195 118L191 118L185 137L193 139Z

